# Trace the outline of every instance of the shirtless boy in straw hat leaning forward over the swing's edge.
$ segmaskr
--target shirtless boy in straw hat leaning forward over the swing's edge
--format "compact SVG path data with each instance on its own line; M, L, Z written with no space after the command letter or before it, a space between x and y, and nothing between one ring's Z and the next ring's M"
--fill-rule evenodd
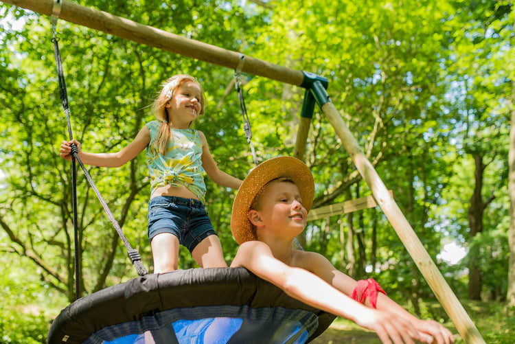
M298 159L278 157L253 169L233 203L231 231L240 247L231 267L243 266L290 297L374 330L382 343L454 343L444 326L414 317L373 279L356 282L323 255L293 249L313 196L312 173Z

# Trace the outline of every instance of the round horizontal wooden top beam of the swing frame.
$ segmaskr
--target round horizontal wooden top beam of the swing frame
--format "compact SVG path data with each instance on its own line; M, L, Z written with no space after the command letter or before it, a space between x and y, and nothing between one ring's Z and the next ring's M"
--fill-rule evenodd
M3 3L52 16L54 0L0 0ZM62 0L59 19L105 32L128 41L156 47L188 58L236 70L240 53L185 38L130 19ZM242 72L300 86L304 73L288 67L245 56Z

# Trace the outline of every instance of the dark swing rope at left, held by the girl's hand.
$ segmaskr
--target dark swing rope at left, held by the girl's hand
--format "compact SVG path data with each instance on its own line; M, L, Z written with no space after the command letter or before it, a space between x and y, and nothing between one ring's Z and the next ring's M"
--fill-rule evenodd
M65 112L66 120L67 120L67 126L68 126L68 135L69 139L73 139L73 135L71 132L71 124L70 124L70 109L68 106L68 95L66 91L66 83L65 83L65 74L62 69L62 62L61 57L59 53L59 46L58 41L59 38L56 34L56 27L57 27L57 20L60 13L60 5L62 3L62 0L54 0L54 10L52 10L52 17L50 19L51 25L52 25L52 42L54 43L54 54L56 56L56 67L57 67L57 75L58 75L58 81L59 81L59 91L60 91L60 99L62 102L62 109ZM113 223L113 226L115 227L119 237L124 242L124 245L127 249L128 257L130 258L130 262L135 266L136 271L139 276L144 276L147 274L147 270L143 263L141 262L141 256L139 255L139 252L137 249L133 249L132 246L130 246L130 243L126 239L124 232L119 227L118 222L115 220L113 214L111 213L111 210L109 210L106 201L98 191L98 188L95 185L95 182L91 178L91 175L89 174L88 170L85 168L84 163L80 160L78 157L78 148L76 144L71 144L71 172L72 172L72 198L73 198L73 233L74 233L74 244L75 244L75 275L76 275L76 298L78 299L80 296L80 287L79 287L79 256L78 256L78 211L77 211L77 176L76 176L76 161L79 163L80 168L82 168L82 171L84 172L84 175L86 176L87 180L89 181L89 184L93 188L93 191L97 195L98 199L100 200L100 203L102 204L102 207L104 207L104 210L106 211L109 219Z

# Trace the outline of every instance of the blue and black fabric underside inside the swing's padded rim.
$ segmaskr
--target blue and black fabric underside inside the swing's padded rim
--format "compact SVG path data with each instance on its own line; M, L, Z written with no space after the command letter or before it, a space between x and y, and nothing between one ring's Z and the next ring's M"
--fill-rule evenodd
M159 312L139 321L109 326L84 344L306 343L317 328L307 310L210 306Z

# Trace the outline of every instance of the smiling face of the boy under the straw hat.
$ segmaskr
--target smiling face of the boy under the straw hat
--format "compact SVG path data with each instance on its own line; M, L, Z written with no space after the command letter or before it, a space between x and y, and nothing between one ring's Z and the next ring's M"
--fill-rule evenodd
M302 205L297 185L291 181L271 181L264 187L256 211L260 216L258 227L277 227L279 229L295 229L300 233L306 227L308 211ZM252 216L251 216L252 217Z

